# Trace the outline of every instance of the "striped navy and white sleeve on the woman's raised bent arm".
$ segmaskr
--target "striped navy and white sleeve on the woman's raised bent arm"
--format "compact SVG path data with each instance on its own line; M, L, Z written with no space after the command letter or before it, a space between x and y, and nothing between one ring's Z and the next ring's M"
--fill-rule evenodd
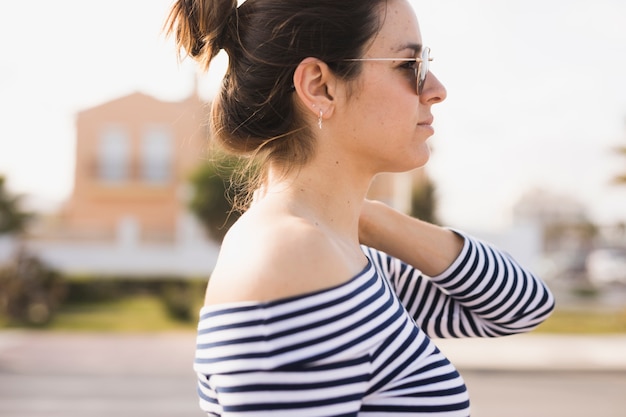
M540 279L491 245L461 236L465 242L458 258L435 277L382 252L367 251L431 337L511 335L530 331L548 318L554 297Z

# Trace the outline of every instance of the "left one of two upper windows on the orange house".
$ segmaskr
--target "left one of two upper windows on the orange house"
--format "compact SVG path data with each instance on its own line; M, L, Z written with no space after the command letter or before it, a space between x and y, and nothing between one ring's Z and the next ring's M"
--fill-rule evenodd
M98 143L98 178L107 183L127 181L130 174L130 140L121 126L108 126Z

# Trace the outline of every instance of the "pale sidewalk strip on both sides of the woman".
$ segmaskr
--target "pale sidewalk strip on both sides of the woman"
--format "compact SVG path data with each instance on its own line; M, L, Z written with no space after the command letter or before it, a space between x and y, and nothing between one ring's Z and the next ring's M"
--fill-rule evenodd
M626 335L527 334L438 339L461 370L626 371ZM0 372L186 375L193 332L160 334L0 331Z

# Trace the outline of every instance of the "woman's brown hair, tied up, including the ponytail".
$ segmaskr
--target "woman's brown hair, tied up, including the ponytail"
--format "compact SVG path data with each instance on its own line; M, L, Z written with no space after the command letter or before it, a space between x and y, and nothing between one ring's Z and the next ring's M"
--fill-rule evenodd
M307 57L353 79L381 24L386 0L178 0L167 19L183 51L208 68L224 49L229 64L213 102L214 139L236 155L260 156L288 169L314 146L293 99L293 74ZM384 9L383 9L384 10Z

